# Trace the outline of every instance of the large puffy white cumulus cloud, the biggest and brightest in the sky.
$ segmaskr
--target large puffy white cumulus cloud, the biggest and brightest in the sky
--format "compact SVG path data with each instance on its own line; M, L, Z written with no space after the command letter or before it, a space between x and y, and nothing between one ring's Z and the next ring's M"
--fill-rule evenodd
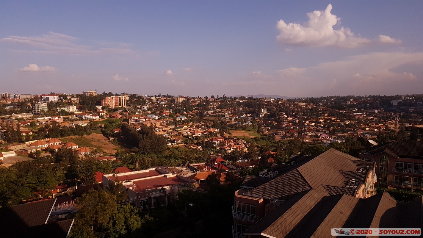
M348 27L335 30L341 18L331 13L332 5L327 5L324 11L313 11L307 14L309 20L301 25L298 23L277 22L279 36L277 41L295 47L325 47L335 46L342 48L355 48L374 43L401 43L400 40L385 35L376 39L355 36Z

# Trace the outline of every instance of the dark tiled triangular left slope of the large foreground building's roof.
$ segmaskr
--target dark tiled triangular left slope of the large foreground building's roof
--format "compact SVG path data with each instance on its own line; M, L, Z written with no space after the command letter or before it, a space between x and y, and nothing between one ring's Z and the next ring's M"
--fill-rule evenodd
M247 191L244 195L288 200L289 198L295 197L297 194L310 189L311 186L307 183L304 177L302 177L301 173L298 170L292 170L291 172Z

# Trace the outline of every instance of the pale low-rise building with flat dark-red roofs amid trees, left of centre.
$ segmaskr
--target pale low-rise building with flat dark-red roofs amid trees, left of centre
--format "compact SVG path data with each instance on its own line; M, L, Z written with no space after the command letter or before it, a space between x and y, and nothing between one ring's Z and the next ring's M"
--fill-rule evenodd
M141 210L167 205L168 201L178 199L179 189L199 186L195 180L159 168L103 175L103 189L116 181L123 182L129 200Z

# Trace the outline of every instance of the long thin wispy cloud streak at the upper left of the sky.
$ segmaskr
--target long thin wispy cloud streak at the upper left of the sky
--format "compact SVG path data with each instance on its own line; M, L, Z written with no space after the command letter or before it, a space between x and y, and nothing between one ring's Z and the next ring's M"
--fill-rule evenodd
M12 50L13 52L29 53L50 53L50 54L68 54L68 55L92 55L92 54L118 54L134 55L139 53L127 49L131 46L128 43L114 43L106 41L94 41L94 45L85 45L80 43L81 39L65 34L49 32L41 36L7 36L0 38L0 43L20 44L27 49ZM110 46L110 47L106 47Z

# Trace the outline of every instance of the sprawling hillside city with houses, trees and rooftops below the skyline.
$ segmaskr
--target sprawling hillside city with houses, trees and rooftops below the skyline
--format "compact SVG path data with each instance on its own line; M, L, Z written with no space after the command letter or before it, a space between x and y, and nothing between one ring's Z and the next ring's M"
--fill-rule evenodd
M422 226L423 94L5 92L0 146L0 217L21 237Z

